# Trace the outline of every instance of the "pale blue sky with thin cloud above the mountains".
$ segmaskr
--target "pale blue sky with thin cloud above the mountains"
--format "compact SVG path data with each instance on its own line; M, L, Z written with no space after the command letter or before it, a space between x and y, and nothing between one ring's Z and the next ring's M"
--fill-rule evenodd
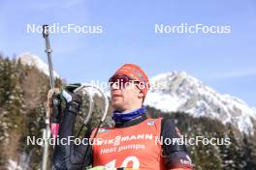
M70 83L107 81L125 63L149 77L186 71L256 107L256 1L1 0L0 51L47 62L41 33L27 25L100 26L102 33L50 33L53 68ZM229 26L230 33L155 33L155 24Z

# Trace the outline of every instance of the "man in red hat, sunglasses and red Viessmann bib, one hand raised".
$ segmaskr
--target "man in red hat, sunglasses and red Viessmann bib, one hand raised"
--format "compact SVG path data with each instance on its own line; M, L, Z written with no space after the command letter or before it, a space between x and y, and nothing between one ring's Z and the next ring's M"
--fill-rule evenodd
M109 80L112 97L113 128L100 128L95 145L56 145L53 169L93 167L131 168L140 170L190 170L192 164L184 145L161 143L180 138L170 119L150 119L145 115L144 99L149 80L136 65L126 64ZM73 136L81 99L77 94L63 93L67 106L61 122L59 138ZM90 133L90 132L89 132ZM85 137L94 135L95 130ZM84 158L84 159L83 159Z

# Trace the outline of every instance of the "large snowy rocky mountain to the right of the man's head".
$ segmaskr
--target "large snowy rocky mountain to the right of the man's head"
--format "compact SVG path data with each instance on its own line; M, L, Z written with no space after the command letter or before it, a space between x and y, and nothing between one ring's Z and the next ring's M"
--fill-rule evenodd
M158 74L150 79L152 88L145 104L165 112L185 112L231 123L240 131L253 132L256 110L241 99L218 94L184 71Z

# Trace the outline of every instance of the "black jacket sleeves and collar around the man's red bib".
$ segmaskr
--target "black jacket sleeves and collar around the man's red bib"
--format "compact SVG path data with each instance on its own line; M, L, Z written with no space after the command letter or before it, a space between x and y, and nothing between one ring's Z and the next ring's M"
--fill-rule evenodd
M114 128L127 128L135 126L142 123L146 119L146 116L142 115L130 121L116 122ZM65 109L59 129L59 140L63 138L67 139L69 136L74 136L75 123L76 114L68 109ZM180 135L176 129L177 128L171 119L162 120L161 136L163 139L180 138ZM88 131L84 137L88 138L90 136L90 132L91 131ZM187 167L188 169L191 168L191 160L189 156L187 156L185 145L163 144L162 156L165 157L165 166L167 169L182 167ZM83 157L85 157L84 161ZM75 143L70 143L70 145L56 145L52 157L52 169L73 170L82 169L81 167L84 169L84 167L92 164L92 158L92 147L90 145L84 145L82 143L80 145L75 145Z

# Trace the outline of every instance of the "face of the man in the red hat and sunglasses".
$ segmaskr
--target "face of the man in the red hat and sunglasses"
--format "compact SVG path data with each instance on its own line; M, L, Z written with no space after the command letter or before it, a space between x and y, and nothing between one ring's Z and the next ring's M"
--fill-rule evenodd
M144 94L133 82L126 83L124 87L118 82L111 85L112 107L120 112L131 110L142 105Z

